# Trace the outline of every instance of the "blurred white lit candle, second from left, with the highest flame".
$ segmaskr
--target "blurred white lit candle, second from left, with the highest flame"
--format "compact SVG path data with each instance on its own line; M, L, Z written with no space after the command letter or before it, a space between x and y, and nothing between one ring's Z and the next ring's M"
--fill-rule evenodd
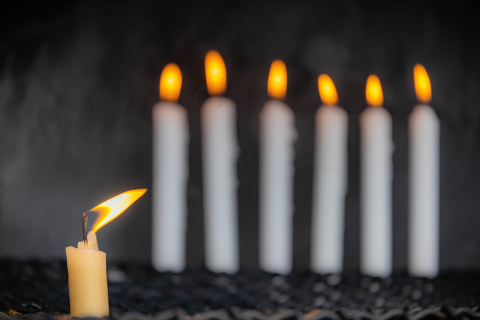
M226 70L216 51L205 56L208 93L226 89ZM238 222L235 103L221 96L208 98L201 107L205 264L213 272L238 271Z

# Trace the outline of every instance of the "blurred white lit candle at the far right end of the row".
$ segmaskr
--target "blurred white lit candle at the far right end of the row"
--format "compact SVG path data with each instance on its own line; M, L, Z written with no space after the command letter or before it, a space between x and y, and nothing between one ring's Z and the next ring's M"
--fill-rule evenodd
M431 98L428 74L421 64L413 68L415 91L424 104L408 119L409 216L408 272L413 276L438 274L439 142L440 122L427 103Z

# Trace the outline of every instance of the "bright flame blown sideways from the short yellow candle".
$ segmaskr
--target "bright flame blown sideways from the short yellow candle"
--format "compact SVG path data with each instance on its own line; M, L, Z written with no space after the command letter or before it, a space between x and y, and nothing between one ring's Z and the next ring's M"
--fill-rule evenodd
M98 231L103 225L116 218L145 192L146 189L125 191L92 208L90 211L96 210L100 213L93 225L93 231Z

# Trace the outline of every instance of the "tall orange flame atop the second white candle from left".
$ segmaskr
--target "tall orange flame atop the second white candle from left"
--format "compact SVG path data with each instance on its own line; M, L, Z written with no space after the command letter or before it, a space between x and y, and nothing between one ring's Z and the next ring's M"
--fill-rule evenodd
M205 55L206 88L210 95L222 94L226 89L225 62L220 53L215 50L208 51Z

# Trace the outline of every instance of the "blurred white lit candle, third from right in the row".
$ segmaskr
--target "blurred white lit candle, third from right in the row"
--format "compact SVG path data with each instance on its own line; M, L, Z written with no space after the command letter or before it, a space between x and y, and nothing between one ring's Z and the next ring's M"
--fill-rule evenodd
M318 90L323 104L315 114L310 268L317 273L340 273L347 191L348 114L335 105L338 95L328 75L318 77Z

